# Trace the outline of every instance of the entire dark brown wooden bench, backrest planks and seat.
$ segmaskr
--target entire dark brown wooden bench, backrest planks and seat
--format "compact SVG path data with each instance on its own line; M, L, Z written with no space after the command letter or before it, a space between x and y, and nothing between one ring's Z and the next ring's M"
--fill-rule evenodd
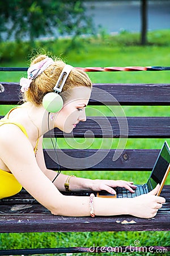
M20 86L18 83L1 82L0 104L17 104L19 101L18 93ZM103 90L103 92L101 91ZM102 92L102 94L101 94ZM170 105L170 84L94 84L89 105L115 105L108 97L108 94L114 97L121 105ZM97 99L97 100L96 100ZM102 104L101 104L101 102ZM170 138L170 117L127 117L129 134L128 138ZM84 138L84 134L89 129L93 132L95 138L109 138L111 131L107 125L101 127L97 123L104 123L105 117L87 117L87 121L81 123L74 129L75 138ZM120 123L117 117L108 117L111 123L114 138L120 137ZM125 129L126 130L126 129ZM54 135L58 138L63 137L63 133L54 129ZM91 137L91 133L86 134ZM71 135L70 135L71 136ZM45 135L49 138L49 133ZM67 137L69 135L67 134ZM124 129L121 131L121 137L126 137ZM84 158L94 154L98 149L62 150L65 154L73 158ZM83 170L92 171L151 171L159 150L155 149L125 149L121 156L113 163L114 149L99 150L105 154L105 158L92 167ZM106 154L107 153L107 154ZM53 150L44 150L46 166L56 170L56 162L50 157ZM96 161L96 162L95 162ZM61 167L61 170L69 170L67 167ZM70 169L72 170L72 168ZM84 192L86 194L86 192ZM62 217L53 216L42 205L33 202L32 197L24 191L18 195L0 200L0 230L1 233L12 232L103 232L103 231L168 231L170 230L170 185L165 185L162 191L166 203L158 214L151 219L137 218L133 216L113 216L113 217ZM125 247L125 246L124 246ZM122 250L123 248L122 247ZM107 247L106 247L107 248ZM141 247L138 247L139 249ZM159 247L153 247L156 251ZM170 251L170 247L161 247L161 249ZM116 252L117 249L115 249ZM127 247L126 251L130 251ZM86 247L63 247L51 249L27 249L27 250L0 250L0 255L10 254L41 254L41 253L80 253L88 252ZM96 249L102 252L102 248Z

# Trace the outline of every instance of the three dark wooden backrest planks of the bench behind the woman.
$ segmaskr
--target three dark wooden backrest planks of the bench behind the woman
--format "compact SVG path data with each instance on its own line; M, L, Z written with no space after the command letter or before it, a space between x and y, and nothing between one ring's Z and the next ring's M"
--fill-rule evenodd
M15 82L1 82L5 88L0 93L1 105L14 105L19 102L20 86ZM170 84L94 84L89 102L90 106L107 105L112 108L120 105L170 105ZM113 111L114 112L114 111ZM170 117L118 117L104 115L87 117L74 129L72 134L63 134L54 129L45 134L45 138L170 138ZM127 134L128 128L128 134ZM89 132L90 130L90 132ZM152 147L151 147L152 148ZM124 149L124 148L123 148ZM159 150L121 150L113 162L115 149L63 149L58 150L61 170L135 170L148 171L154 165ZM53 149L44 150L46 166L56 170L56 159ZM65 158L65 156L68 156ZM104 157L103 157L104 156ZM115 156L115 155L114 155ZM73 159L83 159L84 162ZM72 159L72 160L71 160ZM88 162L88 159L90 162ZM62 164L65 162L65 164ZM76 162L76 163L75 163ZM80 163L78 163L80 162ZM69 167L70 166L70 167Z

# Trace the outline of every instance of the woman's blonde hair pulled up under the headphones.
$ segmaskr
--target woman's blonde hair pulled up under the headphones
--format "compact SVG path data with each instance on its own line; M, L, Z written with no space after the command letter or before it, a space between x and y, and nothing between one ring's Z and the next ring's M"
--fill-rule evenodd
M46 55L37 56L31 65L45 59ZM62 72L65 63L62 60L54 59L54 63L45 69L35 80L31 82L27 92L24 92L23 100L32 102L33 104L40 106L42 99L46 93L54 92L53 88L56 85L59 75ZM77 86L87 86L92 88L92 82L87 74L80 69L73 68L67 78L62 92L66 92L68 89L75 88ZM65 100L65 99L63 99Z

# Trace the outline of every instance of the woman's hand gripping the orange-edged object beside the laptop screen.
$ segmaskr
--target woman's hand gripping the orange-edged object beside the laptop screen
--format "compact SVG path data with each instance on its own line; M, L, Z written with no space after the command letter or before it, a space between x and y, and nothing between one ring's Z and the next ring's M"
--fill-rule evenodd
M130 205L133 205L133 207L130 207L129 214L135 217L153 218L158 210L162 208L162 204L165 203L164 197L155 196L159 187L158 184L151 192L130 199L132 203Z

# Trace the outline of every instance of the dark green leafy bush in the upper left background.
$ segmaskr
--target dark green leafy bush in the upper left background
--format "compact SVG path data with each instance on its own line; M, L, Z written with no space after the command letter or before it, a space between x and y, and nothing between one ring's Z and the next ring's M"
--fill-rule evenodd
M86 15L82 0L6 0L0 2L0 40L34 42L40 36L71 34L73 39L91 31L92 20Z

